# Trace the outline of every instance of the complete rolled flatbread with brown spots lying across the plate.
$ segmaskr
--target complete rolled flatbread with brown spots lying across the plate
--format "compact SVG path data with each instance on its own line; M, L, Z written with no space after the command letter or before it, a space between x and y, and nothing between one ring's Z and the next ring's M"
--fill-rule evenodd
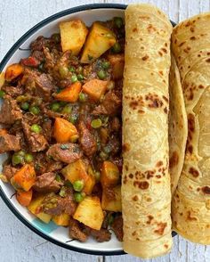
M168 76L172 25L149 4L125 10L122 204L124 250L155 258L172 247Z

